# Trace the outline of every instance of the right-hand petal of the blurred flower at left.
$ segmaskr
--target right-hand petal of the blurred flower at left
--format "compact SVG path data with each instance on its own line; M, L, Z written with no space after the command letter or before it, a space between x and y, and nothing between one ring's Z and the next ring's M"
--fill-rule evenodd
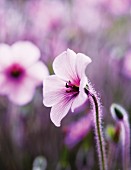
M27 69L27 75L34 84L39 85L49 75L49 71L47 66L39 61Z

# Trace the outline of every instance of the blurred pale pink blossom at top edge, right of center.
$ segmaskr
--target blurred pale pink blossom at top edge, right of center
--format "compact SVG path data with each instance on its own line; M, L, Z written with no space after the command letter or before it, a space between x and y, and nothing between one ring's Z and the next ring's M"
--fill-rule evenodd
M72 11L74 23L79 28L89 33L94 33L104 28L107 24L107 21L99 8L100 3L100 0L77 0L73 5Z

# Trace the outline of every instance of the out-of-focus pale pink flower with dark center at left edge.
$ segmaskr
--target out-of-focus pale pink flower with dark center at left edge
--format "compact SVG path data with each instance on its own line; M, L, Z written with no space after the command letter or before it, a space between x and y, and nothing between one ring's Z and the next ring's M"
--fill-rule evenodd
M30 102L36 86L48 75L39 58L40 51L31 42L0 44L0 94L18 105Z

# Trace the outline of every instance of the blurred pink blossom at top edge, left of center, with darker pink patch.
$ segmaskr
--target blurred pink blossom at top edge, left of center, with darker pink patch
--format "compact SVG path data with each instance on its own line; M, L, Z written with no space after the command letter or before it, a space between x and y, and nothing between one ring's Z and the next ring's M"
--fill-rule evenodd
M68 21L68 9L61 1L34 0L27 2L26 12L33 24L33 34L47 36ZM34 20L34 18L37 18ZM41 33L41 34L40 34Z

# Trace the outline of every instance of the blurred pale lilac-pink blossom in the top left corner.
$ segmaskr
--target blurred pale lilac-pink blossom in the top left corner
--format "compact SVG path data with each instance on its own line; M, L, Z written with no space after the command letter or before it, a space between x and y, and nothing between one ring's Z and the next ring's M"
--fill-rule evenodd
M12 43L23 35L26 18L15 3L0 0L0 42ZM26 29L27 30L27 29Z

